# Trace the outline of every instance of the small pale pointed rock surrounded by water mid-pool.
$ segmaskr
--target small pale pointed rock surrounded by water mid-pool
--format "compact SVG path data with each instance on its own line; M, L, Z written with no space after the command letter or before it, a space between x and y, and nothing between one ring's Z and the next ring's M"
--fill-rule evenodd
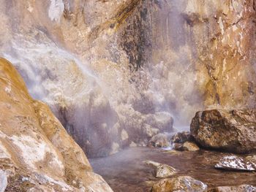
M154 168L155 177L166 178L176 174L176 169L166 164L159 164L154 161L144 161L145 164Z

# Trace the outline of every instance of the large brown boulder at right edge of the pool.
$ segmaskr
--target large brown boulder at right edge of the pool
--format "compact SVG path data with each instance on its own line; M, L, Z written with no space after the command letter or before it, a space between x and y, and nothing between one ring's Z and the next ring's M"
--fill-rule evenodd
M203 147L234 153L256 150L255 110L197 112L190 125L192 137Z

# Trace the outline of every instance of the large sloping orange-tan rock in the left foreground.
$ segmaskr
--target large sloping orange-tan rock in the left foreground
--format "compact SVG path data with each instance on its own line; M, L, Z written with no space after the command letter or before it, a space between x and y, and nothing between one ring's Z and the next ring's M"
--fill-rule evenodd
M0 58L0 169L6 191L112 191L15 68ZM1 183L4 188L4 183Z

